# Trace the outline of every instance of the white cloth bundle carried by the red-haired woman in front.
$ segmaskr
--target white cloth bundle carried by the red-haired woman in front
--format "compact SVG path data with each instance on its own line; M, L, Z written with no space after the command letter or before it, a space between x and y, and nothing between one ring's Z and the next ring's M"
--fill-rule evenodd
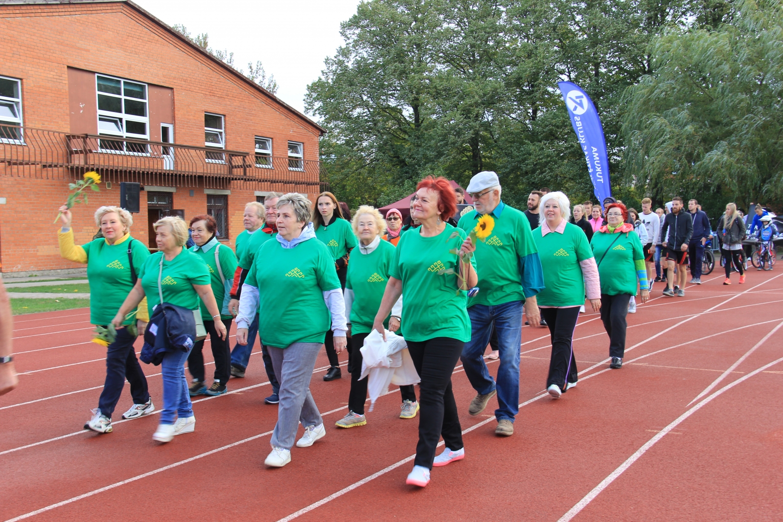
M378 397L389 390L389 384L406 386L420 382L413 359L408 353L405 339L386 330L386 340L377 330L364 339L362 352L362 376L367 377L367 392L370 394L370 412Z

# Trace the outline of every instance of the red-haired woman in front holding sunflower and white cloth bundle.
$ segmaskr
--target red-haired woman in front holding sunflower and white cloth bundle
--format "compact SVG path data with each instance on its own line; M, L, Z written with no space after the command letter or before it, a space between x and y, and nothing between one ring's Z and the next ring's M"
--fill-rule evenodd
M467 289L478 283L478 275L473 257L469 262L461 260L476 247L464 230L446 222L455 213L456 195L446 178L428 176L419 183L411 215L421 225L397 244L373 322L373 329L385 337L384 320L405 293L402 334L421 379L419 443L406 483L420 487L430 481L432 466L446 466L465 454L451 374L463 345L471 340ZM435 457L441 436L446 448Z

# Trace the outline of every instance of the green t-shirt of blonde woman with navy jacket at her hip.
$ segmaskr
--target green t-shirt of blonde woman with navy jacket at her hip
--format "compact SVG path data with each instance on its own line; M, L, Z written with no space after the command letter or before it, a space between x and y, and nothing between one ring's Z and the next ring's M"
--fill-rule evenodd
M161 303L157 292L157 275L161 270L161 257L163 257L163 252L152 254L147 257L139 270L139 279L142 280L142 288L146 293L150 317L152 317L153 308ZM193 285L208 285L209 283L207 264L198 254L182 248L182 252L171 261L166 261L163 257L161 289L163 290L164 302L196 310L199 308L200 299Z

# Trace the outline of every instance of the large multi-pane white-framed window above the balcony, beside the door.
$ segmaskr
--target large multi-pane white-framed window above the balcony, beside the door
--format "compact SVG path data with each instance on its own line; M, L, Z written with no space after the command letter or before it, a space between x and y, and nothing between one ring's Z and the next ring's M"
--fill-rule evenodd
M147 88L137 81L96 74L98 134L119 138L150 139ZM145 144L100 140L102 150L149 153Z

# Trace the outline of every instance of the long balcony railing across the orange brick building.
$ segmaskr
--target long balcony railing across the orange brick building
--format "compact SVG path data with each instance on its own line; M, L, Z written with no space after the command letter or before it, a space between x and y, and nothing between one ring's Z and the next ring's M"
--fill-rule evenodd
M94 170L106 181L150 185L223 188L245 182L269 189L312 187L306 191L312 193L325 185L316 160L3 124L0 167L2 175L45 179L74 178Z

